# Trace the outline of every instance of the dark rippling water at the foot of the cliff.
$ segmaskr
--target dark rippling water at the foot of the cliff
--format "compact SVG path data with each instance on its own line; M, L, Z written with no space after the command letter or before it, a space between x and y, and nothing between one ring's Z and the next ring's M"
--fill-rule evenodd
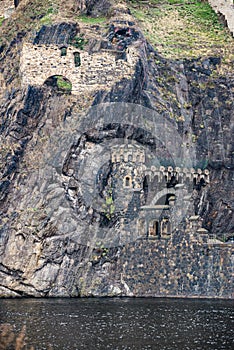
M35 349L234 349L232 301L3 299L5 322Z

